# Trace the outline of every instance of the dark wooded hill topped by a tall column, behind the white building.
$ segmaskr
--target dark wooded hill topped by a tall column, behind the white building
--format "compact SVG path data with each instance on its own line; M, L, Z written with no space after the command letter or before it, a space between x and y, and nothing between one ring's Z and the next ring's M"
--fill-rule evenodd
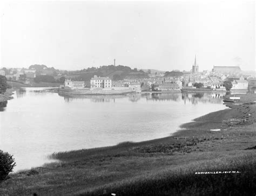
M89 67L80 71L69 71L65 77L74 80L89 81L94 75L110 77L113 80L149 78L144 71L138 71L136 68L131 69L131 67L124 65L104 65L98 68Z

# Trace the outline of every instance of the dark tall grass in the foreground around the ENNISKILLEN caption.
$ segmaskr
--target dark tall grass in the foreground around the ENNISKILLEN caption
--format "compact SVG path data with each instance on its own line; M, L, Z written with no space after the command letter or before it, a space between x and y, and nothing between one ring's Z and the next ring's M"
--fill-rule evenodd
M253 154L198 161L156 175L102 186L80 195L253 195L256 160ZM195 174L201 171L239 171L227 174Z

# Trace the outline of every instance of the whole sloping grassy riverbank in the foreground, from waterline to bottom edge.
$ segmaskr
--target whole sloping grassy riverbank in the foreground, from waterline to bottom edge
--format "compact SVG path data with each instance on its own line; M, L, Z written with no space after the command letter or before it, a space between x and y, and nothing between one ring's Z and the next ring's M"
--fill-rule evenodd
M60 161L11 174L0 195L255 195L256 105L248 100L172 137L52 154ZM223 123L231 118L247 120ZM195 174L210 171L239 173Z

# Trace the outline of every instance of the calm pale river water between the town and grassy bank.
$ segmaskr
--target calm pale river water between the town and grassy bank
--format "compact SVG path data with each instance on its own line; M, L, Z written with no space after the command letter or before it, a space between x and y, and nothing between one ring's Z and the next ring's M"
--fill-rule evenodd
M0 149L15 171L41 166L53 152L170 136L181 124L225 109L217 93L63 97L44 88L16 90L0 103Z

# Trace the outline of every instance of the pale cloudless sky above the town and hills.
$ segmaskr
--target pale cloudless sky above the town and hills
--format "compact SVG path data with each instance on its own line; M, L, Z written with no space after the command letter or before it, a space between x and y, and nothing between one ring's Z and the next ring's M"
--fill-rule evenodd
M255 3L4 2L0 40L0 67L255 70Z

